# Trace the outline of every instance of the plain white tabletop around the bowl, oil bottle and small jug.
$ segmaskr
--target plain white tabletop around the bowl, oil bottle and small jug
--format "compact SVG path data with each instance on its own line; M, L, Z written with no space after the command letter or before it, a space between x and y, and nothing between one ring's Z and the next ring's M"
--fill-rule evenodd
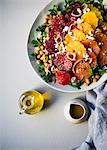
M18 114L18 98L23 91L46 87L30 65L26 45L36 16L48 2L0 0L2 150L70 150L80 145L88 133L87 122L71 124L63 115L64 105L78 94L51 90L55 98L47 109L33 116Z

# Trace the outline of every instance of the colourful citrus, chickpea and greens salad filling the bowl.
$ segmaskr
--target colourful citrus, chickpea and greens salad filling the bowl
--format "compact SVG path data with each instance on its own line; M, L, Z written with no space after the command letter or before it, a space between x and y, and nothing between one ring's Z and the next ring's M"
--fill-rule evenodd
M54 5L32 40L38 72L46 82L81 88L107 73L107 9L102 0Z

